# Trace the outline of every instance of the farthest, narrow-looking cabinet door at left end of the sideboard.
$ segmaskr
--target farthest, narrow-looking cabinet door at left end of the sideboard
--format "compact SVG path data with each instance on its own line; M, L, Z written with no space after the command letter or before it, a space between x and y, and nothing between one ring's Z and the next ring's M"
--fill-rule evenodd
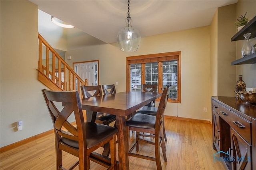
M212 130L213 130L213 148L218 152L220 151L220 117L219 115L212 110Z

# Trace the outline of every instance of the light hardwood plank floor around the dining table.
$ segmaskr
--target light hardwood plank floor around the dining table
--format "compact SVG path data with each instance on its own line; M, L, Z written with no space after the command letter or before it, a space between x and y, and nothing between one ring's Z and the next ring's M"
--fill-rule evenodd
M163 170L224 170L221 162L213 162L211 124L165 118L167 159ZM135 135L131 133L130 146ZM99 149L98 152L101 152ZM140 153L154 155L154 146L141 143ZM162 151L161 151L162 152ZM161 153L160 152L160 153ZM162 155L162 154L161 154ZM54 134L49 134L17 148L1 153L1 170L54 170ZM63 165L69 166L76 157L63 153ZM156 170L156 163L129 156L130 170ZM91 161L91 170L106 168ZM78 167L75 168L78 170Z

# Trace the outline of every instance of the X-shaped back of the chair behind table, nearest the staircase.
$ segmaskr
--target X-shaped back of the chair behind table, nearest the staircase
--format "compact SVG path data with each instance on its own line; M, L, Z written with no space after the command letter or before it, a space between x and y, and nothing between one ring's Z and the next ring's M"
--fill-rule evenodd
M81 86L83 98L102 96L101 86Z

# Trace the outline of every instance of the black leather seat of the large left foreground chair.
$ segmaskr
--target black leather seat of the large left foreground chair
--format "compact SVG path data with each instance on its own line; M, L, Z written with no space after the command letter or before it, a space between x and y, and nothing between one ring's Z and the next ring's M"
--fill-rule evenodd
M100 142L103 142L104 140L106 140L106 138L109 138L118 132L117 128L104 124L98 124L95 122L85 122L85 129L87 149L95 146ZM62 136L61 141L64 144L67 144L74 148L78 148L78 141L76 140L71 140Z

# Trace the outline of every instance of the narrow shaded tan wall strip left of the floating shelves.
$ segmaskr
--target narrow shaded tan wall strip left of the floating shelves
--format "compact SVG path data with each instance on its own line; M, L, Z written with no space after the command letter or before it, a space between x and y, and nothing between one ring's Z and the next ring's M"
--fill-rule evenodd
M218 96L235 96L236 43L230 38L236 34L236 4L218 8Z

